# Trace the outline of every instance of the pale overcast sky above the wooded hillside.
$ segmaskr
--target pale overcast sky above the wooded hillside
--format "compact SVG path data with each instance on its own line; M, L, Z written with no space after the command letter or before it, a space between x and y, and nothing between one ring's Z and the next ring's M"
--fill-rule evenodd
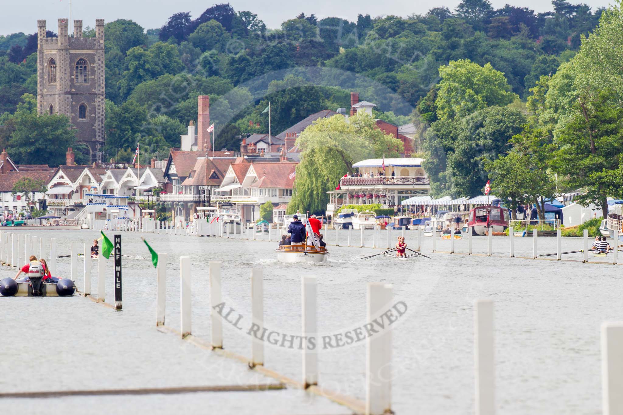
M217 1L197 0L72 0L72 19L82 19L84 26L95 26L95 19L113 21L131 19L145 29L163 26L164 22L174 13L191 12L197 17L207 7ZM300 12L314 13L317 17L338 16L350 21L357 15L396 14L407 16L411 13L425 13L431 7L446 6L450 9L459 4L460 0L439 0L437 2L422 0L359 0L357 2L316 0L304 2L283 0L233 0L229 3L236 11L249 10L257 13L266 26L277 28L287 19L296 17ZM608 6L612 0L571 0L572 3L585 2L594 9ZM503 7L509 3L518 7L530 7L536 12L551 10L551 2L543 0L491 0L493 7ZM353 4L356 4L354 6ZM47 20L48 29L57 31L57 19L69 17L69 0L0 0L0 35L15 32L34 33L37 31L37 19Z

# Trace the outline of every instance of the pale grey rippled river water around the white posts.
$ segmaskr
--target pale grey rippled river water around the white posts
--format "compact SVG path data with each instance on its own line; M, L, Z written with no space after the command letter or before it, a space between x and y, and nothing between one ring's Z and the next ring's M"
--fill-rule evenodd
M57 238L57 254L69 254L69 242L87 246L93 231L24 231ZM326 239L334 243L330 230ZM364 234L368 248L347 248L347 233L340 231L339 247L330 247L326 264L281 264L275 243L195 236L121 233L124 254L148 252L140 236L156 251L168 253L166 324L179 328L179 256L191 256L193 334L209 340L209 261L222 262L222 295L242 324L250 320L250 270L264 273L265 326L280 333L300 335L301 278L318 279L318 330L339 333L365 322L366 283L393 285L394 301L404 301L407 312L392 334L392 409L397 414L459 414L473 411L473 301L495 301L496 394L500 413L601 413L601 360L599 327L606 320L622 320L621 271L607 264L533 261L508 258L508 237L493 238L493 257L431 254L432 238L423 238L422 251L432 259L396 261L378 256L372 231ZM391 245L399 231L390 235ZM112 238L112 234L109 235ZM265 236L264 236L265 237ZM359 245L359 231L351 244ZM409 247L417 233L406 232ZM381 246L387 233L381 231ZM531 256L532 238L515 238L515 254ZM437 240L439 251L449 241ZM563 238L563 251L582 248L581 238ZM540 238L540 253L556 251L555 238ZM49 248L45 249L49 252ZM457 252L467 252L467 238L455 241ZM473 252L485 253L487 238L473 238ZM581 254L565 255L580 259ZM97 293L93 263L92 292ZM112 259L107 264L107 298L112 300ZM79 263L82 269L82 260ZM59 259L59 275L69 273L69 259ZM14 274L0 268L0 277ZM0 298L2 337L1 391L28 388L97 389L152 386L247 384L257 378L244 366L222 363L222 358L182 342L155 327L156 278L148 259L124 258L123 311L113 312L86 299ZM82 289L82 278L77 286ZM47 329L37 330L41 324ZM50 330L52 327L54 330ZM33 348L34 347L34 348ZM250 356L245 330L224 324L224 347ZM7 358L7 357L12 358ZM365 342L322 350L320 380L326 388L365 398ZM226 360L229 362L229 360ZM225 367L223 365L232 365ZM267 344L265 366L301 378L301 352ZM254 377L255 376L255 377ZM53 385L53 386L50 386ZM29 385L29 386L26 386ZM45 385L45 386L44 386ZM252 394L252 396L250 396ZM346 414L348 409L326 399L295 391L185 394L188 413L318 413ZM246 398L254 404L243 404ZM149 410L171 413L179 398L126 396L122 398L3 399L9 413L82 413L82 406ZM205 405L210 401L209 406ZM115 406L112 402L117 402ZM255 404L257 403L257 404ZM72 409L73 408L73 409ZM28 409L24 411L24 409ZM11 411L12 410L12 411ZM126 410L127 411L127 410ZM110 411L109 411L110 412ZM3 411L4 413L4 411Z

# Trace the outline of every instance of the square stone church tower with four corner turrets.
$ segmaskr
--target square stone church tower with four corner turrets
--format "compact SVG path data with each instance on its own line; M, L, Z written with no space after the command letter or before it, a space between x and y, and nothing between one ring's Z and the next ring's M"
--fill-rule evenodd
M37 110L65 114L77 129L77 142L100 161L104 144L104 21L95 21L95 37L82 37L82 21L59 19L59 37L45 37L45 21L37 21ZM54 143L50 143L54 145Z

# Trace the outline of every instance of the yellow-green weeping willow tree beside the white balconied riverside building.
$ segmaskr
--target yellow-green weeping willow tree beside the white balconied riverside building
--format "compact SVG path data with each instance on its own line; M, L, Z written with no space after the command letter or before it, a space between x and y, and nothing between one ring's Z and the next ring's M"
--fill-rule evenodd
M324 213L326 192L335 189L340 177L353 174L354 163L383 155L397 157L403 150L402 142L376 128L376 121L367 114L318 119L301 133L297 144L301 162L288 213Z

